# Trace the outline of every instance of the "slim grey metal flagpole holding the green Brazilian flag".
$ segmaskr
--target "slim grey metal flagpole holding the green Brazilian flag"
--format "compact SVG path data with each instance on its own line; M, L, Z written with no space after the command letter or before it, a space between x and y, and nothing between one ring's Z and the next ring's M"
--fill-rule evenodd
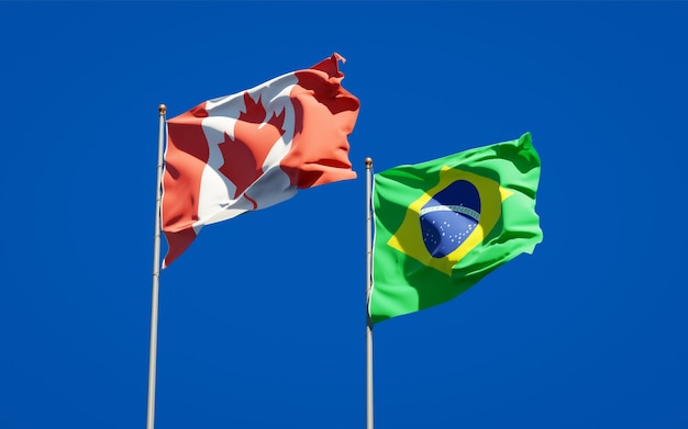
M373 189L373 159L366 158L366 303L370 303L373 286L373 216L370 194ZM366 317L366 428L373 429L373 320L367 309Z

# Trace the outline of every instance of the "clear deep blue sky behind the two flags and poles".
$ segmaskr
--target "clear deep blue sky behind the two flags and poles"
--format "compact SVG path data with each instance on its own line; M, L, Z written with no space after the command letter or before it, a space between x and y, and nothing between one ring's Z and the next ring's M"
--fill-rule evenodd
M531 132L544 241L375 329L376 428L688 427L687 2L2 2L0 427L145 427L157 106L336 52L358 179L160 278L156 428L365 425L365 157Z

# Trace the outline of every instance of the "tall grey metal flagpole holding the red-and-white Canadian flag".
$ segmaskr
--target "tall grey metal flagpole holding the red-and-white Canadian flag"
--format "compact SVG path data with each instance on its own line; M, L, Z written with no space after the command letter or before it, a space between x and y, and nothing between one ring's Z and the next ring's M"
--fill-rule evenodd
M165 113L167 108L160 104L157 139L157 184L155 197L155 238L153 244L153 298L151 303L151 353L148 355L148 411L146 429L155 425L155 373L157 360L157 308L160 276L160 201L163 199L163 140L165 135Z

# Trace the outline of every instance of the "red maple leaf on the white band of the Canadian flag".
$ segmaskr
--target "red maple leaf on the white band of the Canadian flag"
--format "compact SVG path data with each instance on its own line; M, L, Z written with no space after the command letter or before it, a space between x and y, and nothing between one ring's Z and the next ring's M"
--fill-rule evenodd
M254 102L248 92L244 92L244 103L246 112L238 115L234 126L234 139L225 133L224 142L219 145L224 157L220 172L236 185L234 199L263 176L263 163L267 154L285 134L284 110L279 115L273 113L266 121L260 97Z

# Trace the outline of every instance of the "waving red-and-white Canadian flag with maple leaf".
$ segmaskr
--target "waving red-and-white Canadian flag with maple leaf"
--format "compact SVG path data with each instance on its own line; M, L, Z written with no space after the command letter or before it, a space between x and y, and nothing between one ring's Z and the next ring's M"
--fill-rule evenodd
M354 179L347 136L358 99L337 54L167 121L163 232L169 266L209 224L269 207L298 189Z

